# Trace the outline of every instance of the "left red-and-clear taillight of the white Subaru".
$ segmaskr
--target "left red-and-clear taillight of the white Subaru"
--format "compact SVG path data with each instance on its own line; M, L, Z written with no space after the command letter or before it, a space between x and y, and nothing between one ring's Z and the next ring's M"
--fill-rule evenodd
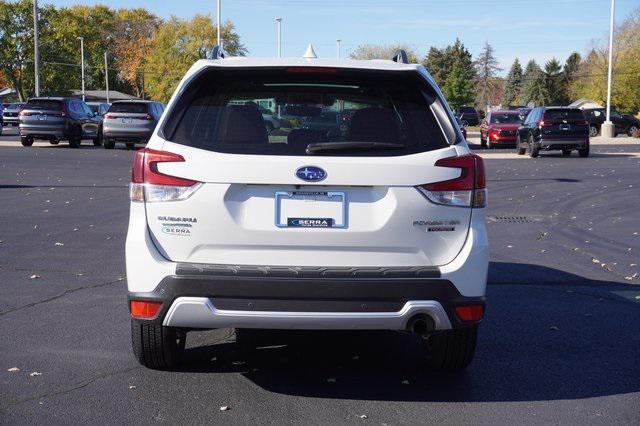
M200 182L158 171L158 163L183 161L181 155L172 152L147 148L136 151L131 168L131 201L180 201L189 198L200 188Z

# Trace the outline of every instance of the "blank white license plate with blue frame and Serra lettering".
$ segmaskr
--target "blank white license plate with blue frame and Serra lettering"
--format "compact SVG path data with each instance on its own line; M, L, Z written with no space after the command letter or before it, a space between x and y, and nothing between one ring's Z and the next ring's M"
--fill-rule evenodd
M276 192L275 224L279 228L346 228L346 195L333 191Z

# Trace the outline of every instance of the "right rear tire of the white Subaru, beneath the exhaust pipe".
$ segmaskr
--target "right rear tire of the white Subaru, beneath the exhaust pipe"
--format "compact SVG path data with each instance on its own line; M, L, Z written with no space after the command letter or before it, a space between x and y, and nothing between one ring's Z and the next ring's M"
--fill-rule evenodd
M478 326L446 330L429 336L427 366L451 373L464 370L473 360L478 339Z

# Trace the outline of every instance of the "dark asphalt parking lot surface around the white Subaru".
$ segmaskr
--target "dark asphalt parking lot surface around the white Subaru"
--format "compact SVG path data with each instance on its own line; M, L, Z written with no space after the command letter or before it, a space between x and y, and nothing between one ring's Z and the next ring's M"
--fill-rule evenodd
M640 419L640 144L486 159L488 305L464 373L411 336L190 333L185 365L130 349L132 152L0 139L0 423L607 423ZM15 369L19 369L16 371ZM9 371L12 370L12 371ZM229 407L221 411L220 407Z

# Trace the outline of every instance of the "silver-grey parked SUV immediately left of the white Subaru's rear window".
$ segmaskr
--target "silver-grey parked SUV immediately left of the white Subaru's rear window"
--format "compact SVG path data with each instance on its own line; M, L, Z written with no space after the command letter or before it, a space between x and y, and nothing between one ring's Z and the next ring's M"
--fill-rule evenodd
M154 101L116 101L102 122L103 144L113 149L124 142L133 149L136 143L147 143L162 116L164 105Z

